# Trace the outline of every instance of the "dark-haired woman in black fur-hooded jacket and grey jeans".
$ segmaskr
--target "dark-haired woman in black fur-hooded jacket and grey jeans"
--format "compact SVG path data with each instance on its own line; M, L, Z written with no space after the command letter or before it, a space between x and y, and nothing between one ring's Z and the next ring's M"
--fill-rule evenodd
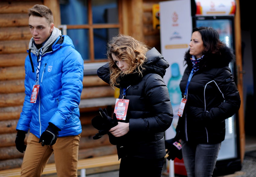
M207 177L213 175L225 138L225 119L238 111L240 96L229 69L234 55L216 30L194 28L189 46L176 137L188 177Z

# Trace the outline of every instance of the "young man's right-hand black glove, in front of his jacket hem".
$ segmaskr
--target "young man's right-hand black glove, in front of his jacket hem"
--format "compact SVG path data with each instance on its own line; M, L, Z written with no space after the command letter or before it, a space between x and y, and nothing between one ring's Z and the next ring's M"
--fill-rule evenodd
M44 145L53 145L56 143L57 137L59 135L60 129L56 127L54 124L49 122L48 127L46 130L42 133L39 143L42 142L42 146Z

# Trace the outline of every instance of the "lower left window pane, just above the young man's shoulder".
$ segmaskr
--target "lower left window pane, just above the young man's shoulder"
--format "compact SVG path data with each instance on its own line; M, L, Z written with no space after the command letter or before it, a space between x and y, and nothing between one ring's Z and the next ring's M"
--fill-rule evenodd
M89 38L87 29L67 30L67 35L72 39L75 49L84 60L89 60Z

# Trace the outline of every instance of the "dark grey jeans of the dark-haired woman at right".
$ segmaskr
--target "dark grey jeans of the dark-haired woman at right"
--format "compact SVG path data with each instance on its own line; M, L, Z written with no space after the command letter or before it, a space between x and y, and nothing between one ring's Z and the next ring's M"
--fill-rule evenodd
M182 156L188 177L211 177L221 143L196 144L181 141Z

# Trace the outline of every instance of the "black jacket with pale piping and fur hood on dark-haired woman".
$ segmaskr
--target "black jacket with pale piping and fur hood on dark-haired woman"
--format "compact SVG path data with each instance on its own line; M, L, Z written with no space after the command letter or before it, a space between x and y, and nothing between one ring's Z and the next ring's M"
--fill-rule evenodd
M192 70L189 51L180 88L184 94ZM220 54L206 54L190 81L187 103L176 127L177 136L196 143L219 143L225 138L225 119L240 107L240 96L229 69L234 55L228 47Z

